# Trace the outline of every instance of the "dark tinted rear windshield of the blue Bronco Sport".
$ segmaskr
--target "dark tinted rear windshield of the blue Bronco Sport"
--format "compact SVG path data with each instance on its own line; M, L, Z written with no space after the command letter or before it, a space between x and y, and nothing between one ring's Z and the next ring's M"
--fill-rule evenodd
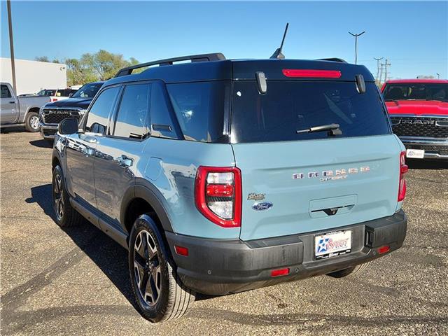
M339 137L390 134L388 118L374 83L358 93L354 82L267 80L259 94L254 81L235 81L232 142L328 139L328 132L300 133L339 124Z

